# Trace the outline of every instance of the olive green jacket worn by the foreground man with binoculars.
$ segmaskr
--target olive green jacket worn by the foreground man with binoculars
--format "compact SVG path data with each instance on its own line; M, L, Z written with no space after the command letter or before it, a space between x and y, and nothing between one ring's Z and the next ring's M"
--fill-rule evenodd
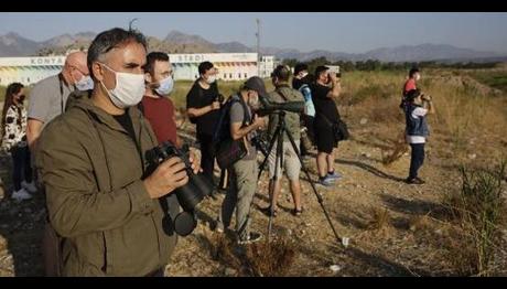
M157 137L139 109L129 114L138 144L88 97L73 101L37 142L50 221L63 239L63 276L145 276L166 265L175 247L161 206L169 203L175 216L175 194L151 200L141 180Z

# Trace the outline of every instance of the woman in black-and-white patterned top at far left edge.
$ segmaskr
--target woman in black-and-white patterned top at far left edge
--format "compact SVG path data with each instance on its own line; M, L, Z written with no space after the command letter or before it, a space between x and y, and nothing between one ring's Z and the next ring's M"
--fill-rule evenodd
M32 179L30 150L26 141L26 109L23 106L24 86L12 83L6 89L2 110L1 148L12 156L12 199L22 201L32 199L36 186Z

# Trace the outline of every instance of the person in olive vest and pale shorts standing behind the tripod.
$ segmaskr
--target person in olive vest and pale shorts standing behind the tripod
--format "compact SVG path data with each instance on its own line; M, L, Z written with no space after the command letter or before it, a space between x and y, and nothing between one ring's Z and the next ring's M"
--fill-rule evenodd
M303 101L303 95L294 88L289 86L289 78L291 73L288 67L279 65L274 68L271 74L271 81L276 87L274 92L270 93L268 100L271 103L288 103L288 101ZM299 147L301 139L301 128L300 128L300 114L298 113L285 113L285 126L288 131L292 135L295 144ZM269 125L268 125L268 136L270 139L273 138L274 131L279 122L279 115L270 114L269 115ZM283 135L283 163L276 163L277 156L277 143L274 143L272 150L269 152L268 157L268 169L269 169L269 186L272 189L272 195L270 195L271 204L273 210L270 206L265 208L265 212L268 212L268 215L278 214L277 201L278 195L280 194L280 180L284 172L289 179L290 190L292 193L292 199L294 201L294 210L292 211L293 215L300 216L302 211L301 205L301 183L300 183L300 171L301 162L298 158L298 152L294 151L292 143L289 140L287 135ZM277 180L274 180L274 170L278 165ZM272 186L272 188L271 188ZM271 190L270 190L271 191Z

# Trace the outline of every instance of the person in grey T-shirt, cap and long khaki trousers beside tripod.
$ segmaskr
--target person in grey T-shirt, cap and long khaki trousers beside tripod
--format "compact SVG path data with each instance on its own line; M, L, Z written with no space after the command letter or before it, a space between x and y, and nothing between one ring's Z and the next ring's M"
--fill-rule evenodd
M238 244L249 244L261 239L260 233L250 231L250 207L257 191L257 149L251 143L255 131L265 126L265 120L254 114L259 107L259 97L267 97L265 83L254 76L247 79L238 94L230 97L227 104L227 117L222 122L227 136L220 138L220 146L231 141L242 143L246 154L229 164L230 185L222 203L216 232L223 233L230 225L236 208L236 234ZM228 129L227 129L228 128ZM219 130L219 128L218 128ZM220 156L217 154L217 158ZM219 162L222 163L222 162Z

